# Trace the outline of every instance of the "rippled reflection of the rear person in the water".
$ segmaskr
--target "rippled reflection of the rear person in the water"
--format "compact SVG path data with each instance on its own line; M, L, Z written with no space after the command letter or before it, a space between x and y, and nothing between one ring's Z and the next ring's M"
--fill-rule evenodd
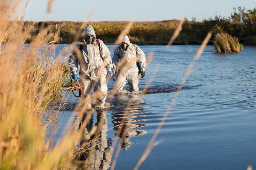
M120 132L119 135L116 137L121 138L123 136L123 134L125 134L124 141L122 144L122 148L125 150L127 150L132 145L130 138L144 135L147 133L147 131L145 131L145 130L137 129L138 127L141 127L142 125L135 124L135 122L142 121L141 119L136 119L136 117L141 117L137 114L139 112L141 113L141 111L144 110L144 108L140 107L140 103L143 103L144 101L142 101L141 98L138 98L138 96L133 95L132 97L134 98L134 100L132 101L132 103L134 103L134 105L133 105L133 107L131 107L128 114L125 114L125 111L112 113L113 129L115 131L117 131L115 135L117 135L118 132ZM116 97L115 100L117 100L119 103L127 103L128 101L125 101L125 99L129 100L129 98L119 95ZM122 119L125 119L124 125L119 126Z

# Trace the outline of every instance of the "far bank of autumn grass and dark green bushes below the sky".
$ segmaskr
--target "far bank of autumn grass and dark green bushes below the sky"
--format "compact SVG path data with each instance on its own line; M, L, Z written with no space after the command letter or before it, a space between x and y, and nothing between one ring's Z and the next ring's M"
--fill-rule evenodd
M134 22L129 33L131 42L139 45L166 45L177 27L179 20L166 20L159 22ZM97 38L106 42L114 43L119 33L128 22L90 22L94 27ZM79 32L82 22L69 21L47 21L24 22L23 30L33 27L26 39L29 43L38 34L40 27L51 27L48 33L54 33L58 37L57 43L71 43L75 35ZM182 31L173 44L201 44L208 31L212 31L213 36L222 31L231 36L239 38L244 45L256 45L256 8L245 10L244 8L234 8L230 17L215 16L214 18L195 18L191 21L185 18ZM56 34L58 32L58 34ZM81 38L81 36L80 36ZM213 44L213 38L209 42Z

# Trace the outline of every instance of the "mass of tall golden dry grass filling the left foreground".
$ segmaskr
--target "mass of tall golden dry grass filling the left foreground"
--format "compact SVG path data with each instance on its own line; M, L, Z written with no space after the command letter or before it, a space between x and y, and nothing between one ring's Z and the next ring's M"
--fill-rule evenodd
M50 123L42 123L69 70L55 59L50 28L42 27L29 46L23 45L33 27L23 30L23 22L10 21L20 2L0 3L0 169L71 169L78 134L70 131L53 147L45 138ZM25 10L15 18L23 18Z

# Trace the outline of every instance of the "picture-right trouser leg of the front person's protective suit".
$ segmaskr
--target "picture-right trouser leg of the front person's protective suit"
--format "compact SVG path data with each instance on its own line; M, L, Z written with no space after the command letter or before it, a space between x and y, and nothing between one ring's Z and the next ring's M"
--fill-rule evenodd
M99 79L94 81L94 92L96 104L104 104L108 96L106 74L102 74Z

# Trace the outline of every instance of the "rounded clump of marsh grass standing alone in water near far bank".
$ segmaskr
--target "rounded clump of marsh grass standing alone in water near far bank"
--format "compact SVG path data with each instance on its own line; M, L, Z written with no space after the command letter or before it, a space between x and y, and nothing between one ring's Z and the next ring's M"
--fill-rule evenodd
M232 37L225 32L217 33L213 44L218 53L239 53L244 48L243 44L239 43L237 37Z

